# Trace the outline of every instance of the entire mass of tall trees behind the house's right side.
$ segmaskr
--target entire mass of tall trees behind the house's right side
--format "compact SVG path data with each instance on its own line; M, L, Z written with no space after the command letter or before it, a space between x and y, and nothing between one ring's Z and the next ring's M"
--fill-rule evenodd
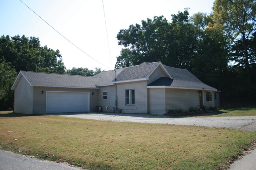
M161 61L222 90L222 102L256 99L256 1L215 0L213 12L154 16L117 34L117 67Z

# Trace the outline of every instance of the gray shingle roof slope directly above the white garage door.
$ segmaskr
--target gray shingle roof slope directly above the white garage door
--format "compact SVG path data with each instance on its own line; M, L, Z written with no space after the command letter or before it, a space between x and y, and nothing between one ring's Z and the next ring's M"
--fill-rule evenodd
M21 71L32 86L96 88L100 78L76 76L70 74L54 74L45 72Z

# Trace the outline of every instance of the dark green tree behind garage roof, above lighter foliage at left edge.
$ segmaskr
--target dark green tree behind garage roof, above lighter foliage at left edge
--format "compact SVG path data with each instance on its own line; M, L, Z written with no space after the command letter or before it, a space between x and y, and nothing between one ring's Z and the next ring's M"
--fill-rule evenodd
M65 66L62 62L60 51L40 47L36 37L0 37L0 58L4 59L16 72L20 70L64 73Z

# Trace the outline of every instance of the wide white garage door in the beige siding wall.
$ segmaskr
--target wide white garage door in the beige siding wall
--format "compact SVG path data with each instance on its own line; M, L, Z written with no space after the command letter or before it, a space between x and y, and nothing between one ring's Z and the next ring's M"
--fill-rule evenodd
M46 92L46 113L90 111L89 92Z

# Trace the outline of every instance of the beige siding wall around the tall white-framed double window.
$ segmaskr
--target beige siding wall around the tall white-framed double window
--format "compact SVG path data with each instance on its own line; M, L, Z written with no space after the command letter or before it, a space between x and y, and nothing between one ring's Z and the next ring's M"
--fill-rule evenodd
M118 83L118 108L122 113L147 113L147 87L146 81ZM125 90L135 90L135 105L125 105Z

